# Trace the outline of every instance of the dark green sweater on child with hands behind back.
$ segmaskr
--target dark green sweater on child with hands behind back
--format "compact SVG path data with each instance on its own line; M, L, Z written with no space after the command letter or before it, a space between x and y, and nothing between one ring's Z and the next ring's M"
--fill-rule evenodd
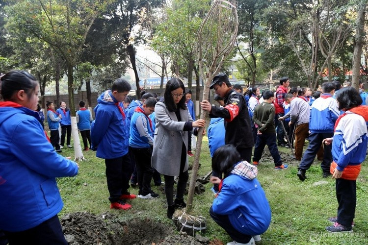
M267 102L257 105L253 113L253 122L258 130L265 134L275 134L275 107Z

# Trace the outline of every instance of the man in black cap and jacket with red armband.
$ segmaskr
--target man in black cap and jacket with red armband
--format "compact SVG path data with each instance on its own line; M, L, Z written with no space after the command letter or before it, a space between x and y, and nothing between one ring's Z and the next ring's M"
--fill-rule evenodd
M232 144L237 148L243 160L250 163L254 141L250 125L248 106L242 94L233 89L226 74L216 75L210 89L224 98L223 108L211 106L210 102L203 100L201 108L210 112L210 118L224 118L225 144Z

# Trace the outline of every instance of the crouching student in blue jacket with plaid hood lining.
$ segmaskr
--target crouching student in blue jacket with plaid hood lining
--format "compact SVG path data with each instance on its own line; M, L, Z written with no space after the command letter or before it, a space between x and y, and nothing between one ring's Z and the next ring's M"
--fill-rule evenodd
M210 216L234 240L227 245L260 241L271 221L271 209L257 180L257 168L241 157L232 145L219 147L212 158L212 169L224 178L212 176L219 193L210 207ZM254 237L252 237L254 236Z

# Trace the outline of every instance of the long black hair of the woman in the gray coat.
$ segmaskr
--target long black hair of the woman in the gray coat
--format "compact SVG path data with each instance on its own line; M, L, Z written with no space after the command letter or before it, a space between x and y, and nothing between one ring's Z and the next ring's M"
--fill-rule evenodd
M169 111L176 111L177 108L181 108L183 110L186 109L184 96L180 99L178 104L174 103L174 98L171 92L178 88L182 88L183 93L184 93L185 91L184 83L179 78L173 77L166 83L165 93L163 97L164 97L164 103L166 105L166 108Z

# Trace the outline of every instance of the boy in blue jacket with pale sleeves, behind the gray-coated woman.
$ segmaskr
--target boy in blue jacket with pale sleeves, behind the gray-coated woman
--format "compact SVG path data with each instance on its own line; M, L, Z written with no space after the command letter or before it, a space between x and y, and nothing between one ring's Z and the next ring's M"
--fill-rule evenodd
M137 106L131 116L129 147L134 155L138 178L138 197L152 199L158 197L151 189L154 169L151 167L154 133L151 119L157 100L147 98L142 106Z

